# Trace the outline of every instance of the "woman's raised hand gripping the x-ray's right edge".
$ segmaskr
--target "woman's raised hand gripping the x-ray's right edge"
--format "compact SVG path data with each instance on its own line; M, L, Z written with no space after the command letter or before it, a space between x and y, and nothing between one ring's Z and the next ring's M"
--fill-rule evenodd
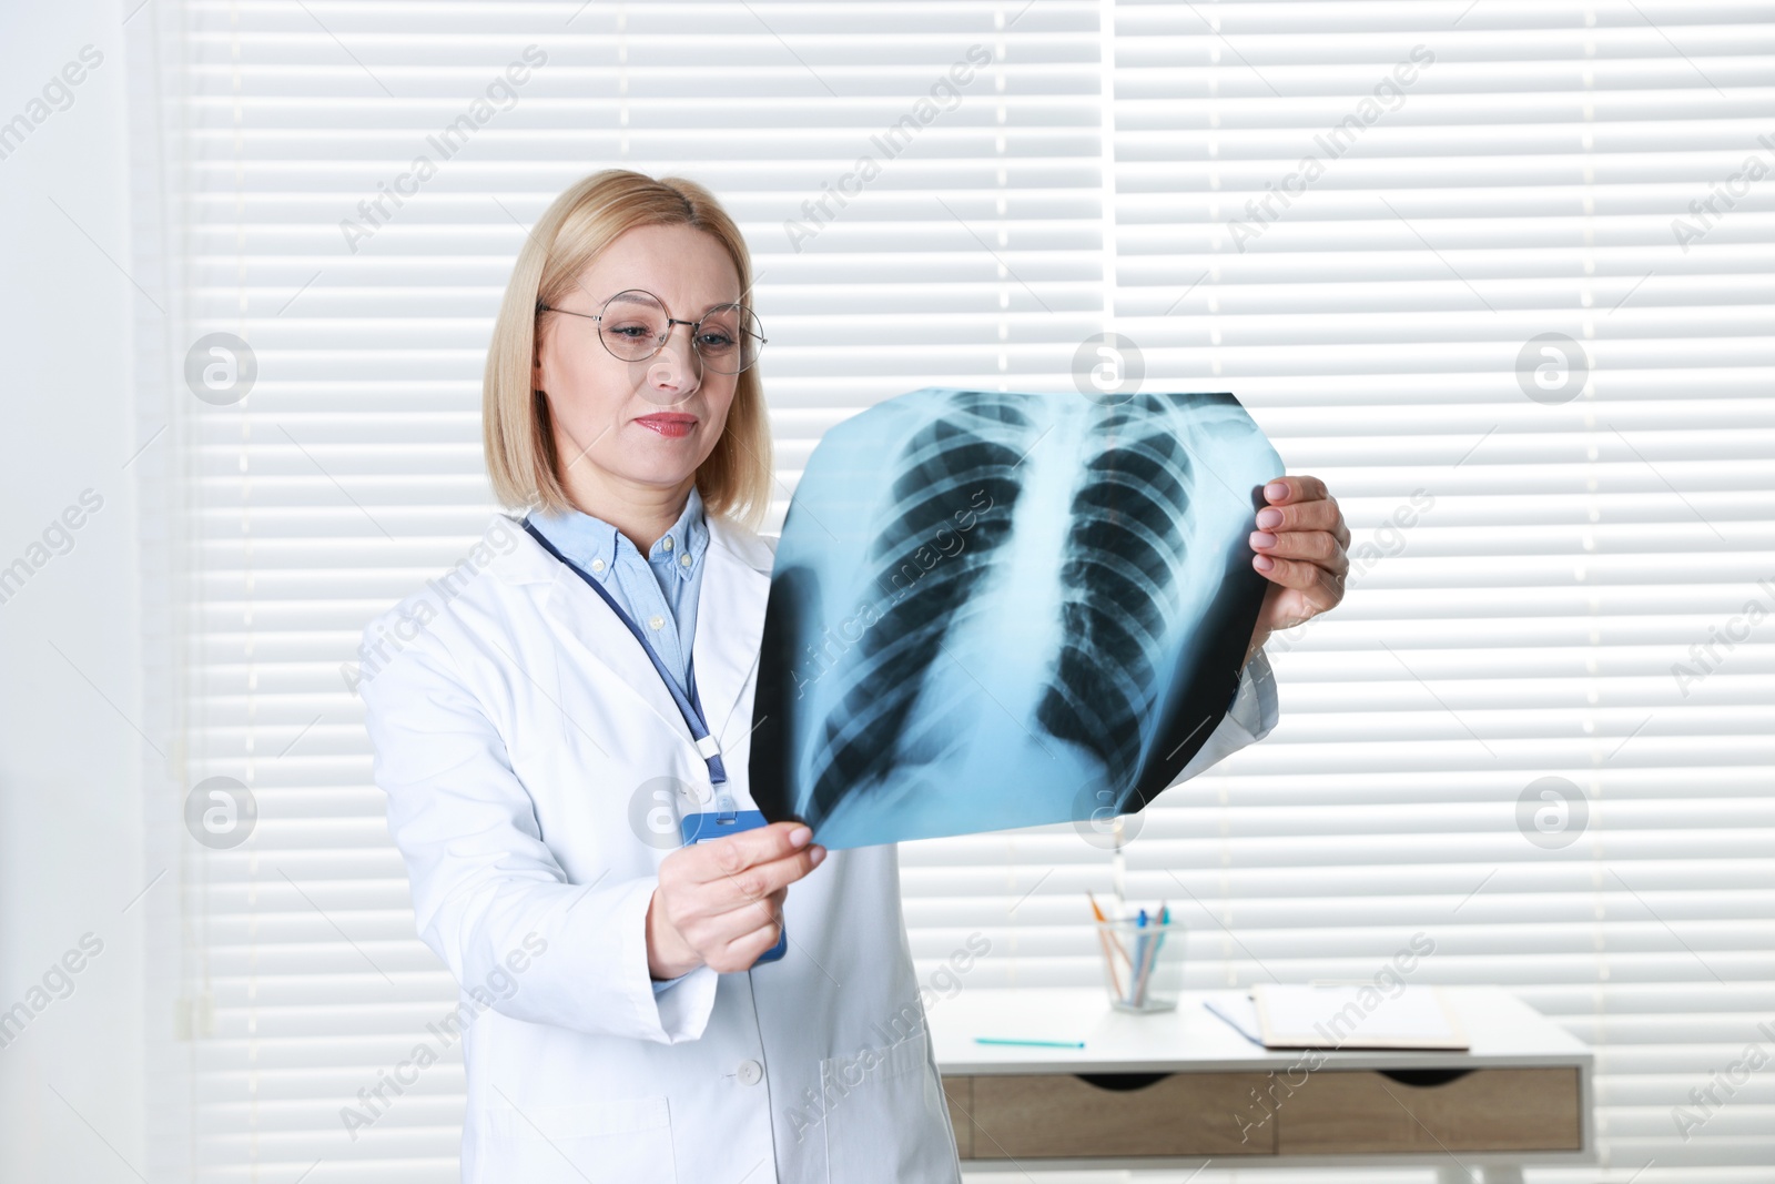
M1269 634L1335 609L1344 600L1349 573L1349 529L1344 511L1319 478L1276 478L1264 486L1251 533L1251 566L1269 580L1264 607L1251 630L1246 660Z

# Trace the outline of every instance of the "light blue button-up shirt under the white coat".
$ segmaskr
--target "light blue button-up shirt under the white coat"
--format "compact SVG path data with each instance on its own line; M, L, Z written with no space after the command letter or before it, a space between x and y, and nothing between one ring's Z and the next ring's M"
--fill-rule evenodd
M579 570L598 580L616 604L623 605L646 635L678 689L689 694L687 671L690 643L696 637L696 595L703 586L703 552L708 550L708 522L703 495L690 486L683 511L671 529L653 540L648 557L641 557L627 534L604 518L580 509L561 513L532 511L531 524ZM678 983L655 978L653 992Z

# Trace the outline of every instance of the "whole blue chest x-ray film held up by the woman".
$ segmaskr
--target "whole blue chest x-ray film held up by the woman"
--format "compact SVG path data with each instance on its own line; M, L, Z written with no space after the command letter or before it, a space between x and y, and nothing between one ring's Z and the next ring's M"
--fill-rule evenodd
M838 424L777 545L753 801L832 849L1138 811L1237 691L1280 474L1230 394L927 387Z

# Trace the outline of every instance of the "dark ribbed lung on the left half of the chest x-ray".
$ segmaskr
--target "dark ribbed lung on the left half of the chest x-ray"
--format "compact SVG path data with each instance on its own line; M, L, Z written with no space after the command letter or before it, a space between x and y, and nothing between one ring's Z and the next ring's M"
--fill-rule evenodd
M919 430L900 453L893 483L893 518L870 547L872 584L889 591L882 620L863 635L845 664L847 691L822 730L815 754L813 813L825 815L861 781L893 762L928 760L943 744L943 715L921 710L909 726L925 675L943 653L944 634L967 620L969 593L990 572L992 554L1010 534L1017 504L1017 463L1035 437L1015 396L969 392L955 414ZM957 563L923 572L918 552L930 550L953 515L990 499L994 513L971 531ZM918 579L918 595L893 595Z

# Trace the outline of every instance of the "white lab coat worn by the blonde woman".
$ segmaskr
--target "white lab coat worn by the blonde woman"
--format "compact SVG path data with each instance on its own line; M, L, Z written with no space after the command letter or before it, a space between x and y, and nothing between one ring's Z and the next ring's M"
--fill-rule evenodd
M717 515L708 529L692 660L753 808L774 543ZM637 838L632 804L662 776L706 786L706 765L596 593L509 517L486 538L371 621L359 685L419 935L462 987L460 1022L428 1044L462 1031L463 1180L958 1180L898 849L834 850L792 884L781 960L657 991L644 921L667 852ZM1267 675L1258 655L1186 776L1269 731Z

